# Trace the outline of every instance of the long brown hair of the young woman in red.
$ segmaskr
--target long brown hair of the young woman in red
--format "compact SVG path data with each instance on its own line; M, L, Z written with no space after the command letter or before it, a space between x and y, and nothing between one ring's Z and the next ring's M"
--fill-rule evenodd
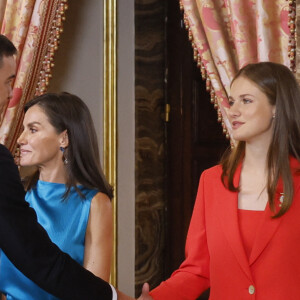
M276 106L274 129L267 157L267 191L269 204L275 211L274 196L279 178L283 181L284 201L274 217L282 216L293 201L293 180L289 156L300 160L300 88L295 76L284 65L273 62L260 62L243 67L231 84L239 77L251 80ZM231 191L239 188L233 184L234 173L245 155L245 142L225 153L221 160L222 181Z

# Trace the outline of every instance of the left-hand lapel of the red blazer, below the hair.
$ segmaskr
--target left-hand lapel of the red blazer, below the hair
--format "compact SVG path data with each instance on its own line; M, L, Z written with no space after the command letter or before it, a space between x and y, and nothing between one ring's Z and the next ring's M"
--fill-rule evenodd
M234 175L235 186L238 186L239 184L241 167L242 165L240 164ZM218 213L222 223L222 229L242 270L245 272L247 277L252 280L248 258L239 229L237 214L238 193L224 189L224 193L221 198L222 199L219 201L220 207Z

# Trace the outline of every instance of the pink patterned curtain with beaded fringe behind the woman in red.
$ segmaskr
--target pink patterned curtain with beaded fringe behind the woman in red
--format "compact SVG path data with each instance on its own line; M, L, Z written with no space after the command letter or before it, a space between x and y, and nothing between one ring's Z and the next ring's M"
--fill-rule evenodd
M259 61L295 67L294 1L182 0L180 5L194 58L229 137L224 107L236 72Z

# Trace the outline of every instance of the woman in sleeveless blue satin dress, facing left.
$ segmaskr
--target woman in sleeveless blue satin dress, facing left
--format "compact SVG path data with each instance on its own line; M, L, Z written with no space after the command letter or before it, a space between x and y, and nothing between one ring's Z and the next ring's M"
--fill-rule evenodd
M85 103L47 93L25 105L18 139L20 165L34 166L26 200L64 252L108 281L113 247L112 189L104 178L97 136ZM56 299L0 256L0 291L7 300Z

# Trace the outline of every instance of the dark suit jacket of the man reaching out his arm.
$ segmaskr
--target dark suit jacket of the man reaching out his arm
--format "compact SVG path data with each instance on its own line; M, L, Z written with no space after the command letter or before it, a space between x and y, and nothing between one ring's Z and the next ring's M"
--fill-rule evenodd
M61 299L112 299L109 284L53 244L24 200L18 169L0 145L0 248L41 288Z

